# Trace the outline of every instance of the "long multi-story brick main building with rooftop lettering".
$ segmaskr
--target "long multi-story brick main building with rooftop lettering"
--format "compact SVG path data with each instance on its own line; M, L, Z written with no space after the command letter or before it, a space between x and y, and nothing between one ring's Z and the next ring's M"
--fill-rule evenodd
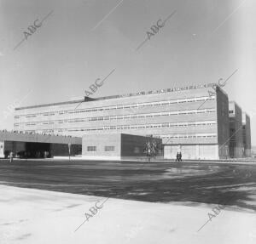
M229 126L228 96L211 84L15 110L15 130L99 138L108 133L153 135L162 139L167 158L177 150L191 159L229 156Z

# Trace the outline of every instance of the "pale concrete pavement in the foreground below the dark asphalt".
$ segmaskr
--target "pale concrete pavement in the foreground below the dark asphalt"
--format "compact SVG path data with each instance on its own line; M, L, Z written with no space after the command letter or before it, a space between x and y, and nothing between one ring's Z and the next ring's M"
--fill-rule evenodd
M184 202L106 201L96 196L4 185L0 185L0 192L3 244L256 243L255 213L236 207L226 207L198 231L213 206L195 202L182 206ZM75 232L86 219L84 214L90 213L90 207L98 200L102 208Z

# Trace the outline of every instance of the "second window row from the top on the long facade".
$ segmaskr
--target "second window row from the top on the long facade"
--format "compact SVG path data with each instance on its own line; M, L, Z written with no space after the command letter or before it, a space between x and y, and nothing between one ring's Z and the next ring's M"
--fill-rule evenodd
M98 117L89 117L89 118L79 118L79 119L69 119L69 120L55 120L55 121L44 121L44 122L20 122L15 123L15 126L19 126L20 124L25 123L26 126L36 125L37 124L54 124L58 123L67 123L67 122L86 122L86 121L108 121L108 120L126 120L133 118L146 118L146 117L157 117L157 116L172 116L172 115L186 115L186 114L200 114L200 113L212 113L215 112L215 109L205 109L205 110L188 110L188 111L166 111L166 112L158 112L158 113L150 113L150 114L137 114L137 115L120 115L120 116L98 116Z

